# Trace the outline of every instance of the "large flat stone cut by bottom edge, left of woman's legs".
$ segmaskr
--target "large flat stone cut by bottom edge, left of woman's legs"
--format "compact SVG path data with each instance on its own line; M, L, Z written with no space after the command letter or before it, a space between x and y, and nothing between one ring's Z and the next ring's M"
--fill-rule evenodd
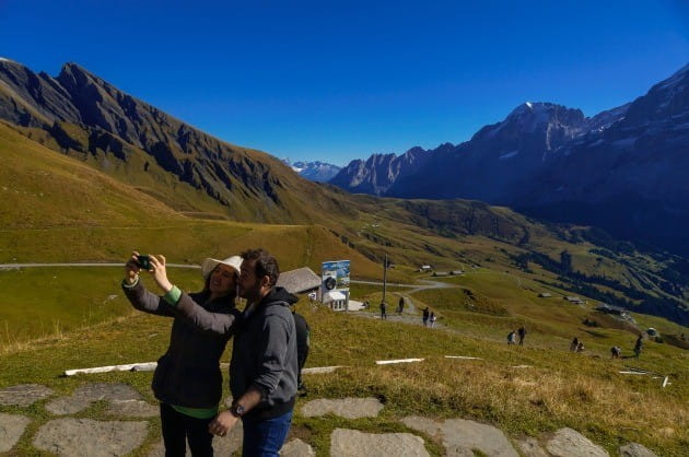
M121 456L141 446L147 433L148 422L63 418L43 425L33 444L60 456Z

